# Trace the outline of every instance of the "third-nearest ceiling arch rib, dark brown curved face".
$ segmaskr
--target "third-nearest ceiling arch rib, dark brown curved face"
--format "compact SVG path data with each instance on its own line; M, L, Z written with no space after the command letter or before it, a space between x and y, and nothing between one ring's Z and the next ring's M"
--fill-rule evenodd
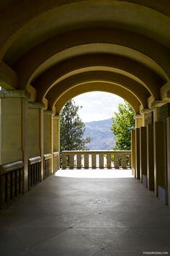
M61 77L83 68L96 66L113 67L129 73L129 76L138 77L138 80L143 82L143 85L153 95L156 100L159 100L159 92L165 81L158 77L151 69L146 68L143 64L133 61L122 56L109 55L109 54L91 54L89 56L79 56L76 58L68 59L52 67L47 72L42 74L34 82L32 86L37 90L38 100L45 97L48 90L55 85ZM70 73L71 74L71 73Z

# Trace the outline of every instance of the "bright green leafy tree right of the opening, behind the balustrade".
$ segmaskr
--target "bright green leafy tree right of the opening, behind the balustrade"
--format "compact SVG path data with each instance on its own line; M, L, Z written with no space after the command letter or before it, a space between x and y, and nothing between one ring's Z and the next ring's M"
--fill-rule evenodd
M135 112L128 102L120 103L118 112L112 116L112 133L116 136L114 150L131 149L131 130L135 128Z

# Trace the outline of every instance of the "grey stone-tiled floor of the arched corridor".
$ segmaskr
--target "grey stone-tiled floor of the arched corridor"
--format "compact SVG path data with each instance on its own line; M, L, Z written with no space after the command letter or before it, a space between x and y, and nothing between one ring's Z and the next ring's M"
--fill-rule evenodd
M65 174L0 212L1 256L170 254L170 208L138 180Z

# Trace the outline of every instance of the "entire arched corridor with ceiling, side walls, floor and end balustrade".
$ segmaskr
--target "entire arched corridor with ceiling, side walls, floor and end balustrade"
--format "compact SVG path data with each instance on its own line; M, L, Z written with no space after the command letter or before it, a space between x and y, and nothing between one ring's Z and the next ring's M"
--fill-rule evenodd
M1 0L0 24L0 256L169 252L170 1ZM61 152L93 91L132 106L131 150Z

